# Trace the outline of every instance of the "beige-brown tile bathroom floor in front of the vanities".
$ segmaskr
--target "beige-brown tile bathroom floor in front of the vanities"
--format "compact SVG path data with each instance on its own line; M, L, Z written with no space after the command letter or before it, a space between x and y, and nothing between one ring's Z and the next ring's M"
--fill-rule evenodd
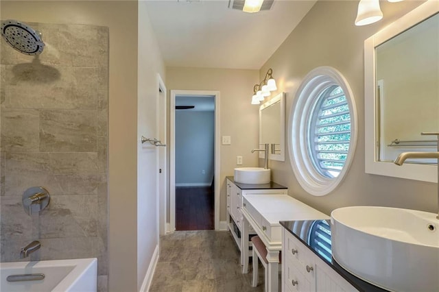
M263 267L258 287L252 271L241 273L239 250L230 232L177 231L161 236L161 252L150 292L263 291Z

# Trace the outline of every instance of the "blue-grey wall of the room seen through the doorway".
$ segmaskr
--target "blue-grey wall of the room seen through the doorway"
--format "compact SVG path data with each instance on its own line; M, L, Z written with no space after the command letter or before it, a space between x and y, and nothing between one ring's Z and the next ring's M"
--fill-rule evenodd
M215 112L176 110L175 133L176 186L210 186L215 166Z

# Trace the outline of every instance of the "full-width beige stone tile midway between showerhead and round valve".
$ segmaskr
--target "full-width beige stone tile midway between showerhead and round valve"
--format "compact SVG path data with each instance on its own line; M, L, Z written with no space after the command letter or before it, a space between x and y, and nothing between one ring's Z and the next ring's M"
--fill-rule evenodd
M41 110L40 151L97 151L97 110Z

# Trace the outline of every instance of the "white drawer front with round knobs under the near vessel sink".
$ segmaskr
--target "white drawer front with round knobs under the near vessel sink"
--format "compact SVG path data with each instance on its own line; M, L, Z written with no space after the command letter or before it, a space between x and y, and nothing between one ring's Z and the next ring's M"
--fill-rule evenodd
M358 291L283 228L282 291Z

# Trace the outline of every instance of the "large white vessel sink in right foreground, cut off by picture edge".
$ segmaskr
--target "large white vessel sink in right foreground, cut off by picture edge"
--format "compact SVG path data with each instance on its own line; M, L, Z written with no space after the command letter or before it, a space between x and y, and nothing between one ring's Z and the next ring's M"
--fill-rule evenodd
M390 291L439 291L436 214L353 206L331 213L332 256L355 276Z

